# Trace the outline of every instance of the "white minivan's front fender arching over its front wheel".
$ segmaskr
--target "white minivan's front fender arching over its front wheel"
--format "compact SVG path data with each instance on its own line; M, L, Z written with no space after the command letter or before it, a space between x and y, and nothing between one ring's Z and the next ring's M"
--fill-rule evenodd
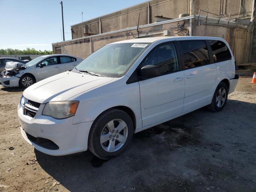
M94 121L109 108L126 106L135 114L136 129L142 128L139 84L138 82L126 84L126 80L127 78L122 78L70 98L79 101L73 124Z

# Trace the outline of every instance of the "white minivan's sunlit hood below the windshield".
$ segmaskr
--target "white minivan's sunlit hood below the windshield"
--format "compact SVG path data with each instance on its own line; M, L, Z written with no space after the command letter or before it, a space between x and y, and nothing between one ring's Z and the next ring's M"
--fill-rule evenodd
M77 72L64 72L33 84L24 90L23 95L38 103L65 101L81 92L106 84L112 79Z

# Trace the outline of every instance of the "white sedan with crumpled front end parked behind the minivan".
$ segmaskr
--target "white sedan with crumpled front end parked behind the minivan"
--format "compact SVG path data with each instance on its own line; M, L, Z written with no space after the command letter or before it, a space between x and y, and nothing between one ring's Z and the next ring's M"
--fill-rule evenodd
M4 87L27 88L50 76L72 70L81 61L81 58L62 54L40 56L26 64L19 63L13 70L3 71L0 84Z

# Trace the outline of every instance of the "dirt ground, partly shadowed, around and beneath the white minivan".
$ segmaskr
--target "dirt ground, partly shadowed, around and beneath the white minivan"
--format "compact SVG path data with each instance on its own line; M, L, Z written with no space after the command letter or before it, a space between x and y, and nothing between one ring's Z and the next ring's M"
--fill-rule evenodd
M108 161L89 151L54 157L34 150L20 134L22 90L1 88L0 191L255 192L256 84L250 81L239 79L222 112L202 108L139 132Z

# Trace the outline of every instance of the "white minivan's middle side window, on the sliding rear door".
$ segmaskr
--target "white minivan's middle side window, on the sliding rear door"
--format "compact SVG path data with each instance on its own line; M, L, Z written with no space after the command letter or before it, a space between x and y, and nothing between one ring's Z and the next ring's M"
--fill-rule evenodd
M185 68L203 66L210 63L205 41L180 42Z

